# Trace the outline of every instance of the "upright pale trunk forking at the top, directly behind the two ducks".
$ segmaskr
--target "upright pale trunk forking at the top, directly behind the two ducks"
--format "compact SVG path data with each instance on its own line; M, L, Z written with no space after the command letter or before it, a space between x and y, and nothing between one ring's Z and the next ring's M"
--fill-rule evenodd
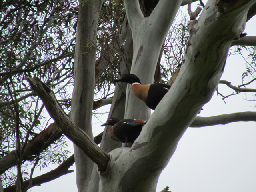
M142 84L153 83L160 50L181 2L182 0L159 1L150 16L144 18L136 0L124 1L133 38L131 73L138 76ZM129 84L126 91L125 118L148 120L150 109L134 96L130 88Z

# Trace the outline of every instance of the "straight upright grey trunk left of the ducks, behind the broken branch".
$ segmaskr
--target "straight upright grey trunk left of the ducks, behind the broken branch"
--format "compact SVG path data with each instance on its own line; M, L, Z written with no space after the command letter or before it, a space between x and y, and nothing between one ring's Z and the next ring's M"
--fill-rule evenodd
M90 138L92 134L92 105L95 87L96 33L100 0L80 0L75 51L75 82L72 94L71 118ZM82 6L84 4L84 6ZM76 184L79 192L86 190L94 162L74 145Z

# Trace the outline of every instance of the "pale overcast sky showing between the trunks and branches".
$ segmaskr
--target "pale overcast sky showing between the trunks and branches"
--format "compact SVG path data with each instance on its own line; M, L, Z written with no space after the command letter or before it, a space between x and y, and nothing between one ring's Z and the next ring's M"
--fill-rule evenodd
M206 2L206 1L204 1ZM195 7L195 3L193 4ZM187 7L183 8L186 11ZM245 31L256 36L256 18L252 18ZM247 57L248 52L244 52ZM245 61L240 56L228 58L222 80L233 85L242 84L242 72ZM244 82L249 82L246 78ZM256 83L248 88L255 88ZM220 85L224 94L234 92L226 85ZM240 93L227 98L226 104L216 92L212 100L198 116L215 116L243 111L255 111L253 93ZM110 105L105 108L110 109ZM102 116L105 122L107 115ZM100 122L93 118L94 136L104 130ZM188 128L178 143L178 147L169 164L163 170L157 186L157 192L169 186L172 192L255 192L256 191L256 122L236 122L227 125L204 128ZM73 153L70 142L68 150ZM56 168L54 166L52 169ZM75 171L72 166L70 170ZM37 171L39 176L50 169ZM75 172L62 176L52 182L31 188L32 192L77 192Z

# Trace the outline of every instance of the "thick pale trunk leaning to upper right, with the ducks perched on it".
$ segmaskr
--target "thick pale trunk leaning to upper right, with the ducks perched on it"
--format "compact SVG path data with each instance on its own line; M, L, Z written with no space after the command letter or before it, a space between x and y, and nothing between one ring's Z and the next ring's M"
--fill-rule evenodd
M125 6L129 2L132 1L125 1ZM256 0L236 0L223 4L218 1L216 4L216 0L209 0L200 18L189 22L190 38L176 81L142 128L132 148L118 148L110 152L108 168L100 175L100 192L156 191L158 177L176 150L178 141L218 86L230 44L239 39L244 30L248 9L255 2ZM128 10L127 13L129 14ZM154 32L150 31L150 34ZM154 38L144 38L144 41L151 40L154 41ZM144 57L150 57L150 48L146 47L143 49L145 52L138 52L140 46L136 41L139 40L134 38L134 41L134 60L137 61L133 60L132 71L136 68L137 74L150 76L151 73L147 74L145 67L139 70L140 67L136 66L138 63L145 66ZM144 46L144 41L139 42ZM147 65L150 66L148 63ZM143 80L144 78L142 84Z

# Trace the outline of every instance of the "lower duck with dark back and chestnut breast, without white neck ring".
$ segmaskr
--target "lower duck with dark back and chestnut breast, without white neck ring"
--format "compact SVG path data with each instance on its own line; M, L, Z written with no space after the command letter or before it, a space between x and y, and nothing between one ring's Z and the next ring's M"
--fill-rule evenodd
M143 119L119 120L112 117L101 126L112 125L108 131L108 136L114 141L125 143L125 147L128 147L127 144L133 143L136 140L145 124L146 120Z

